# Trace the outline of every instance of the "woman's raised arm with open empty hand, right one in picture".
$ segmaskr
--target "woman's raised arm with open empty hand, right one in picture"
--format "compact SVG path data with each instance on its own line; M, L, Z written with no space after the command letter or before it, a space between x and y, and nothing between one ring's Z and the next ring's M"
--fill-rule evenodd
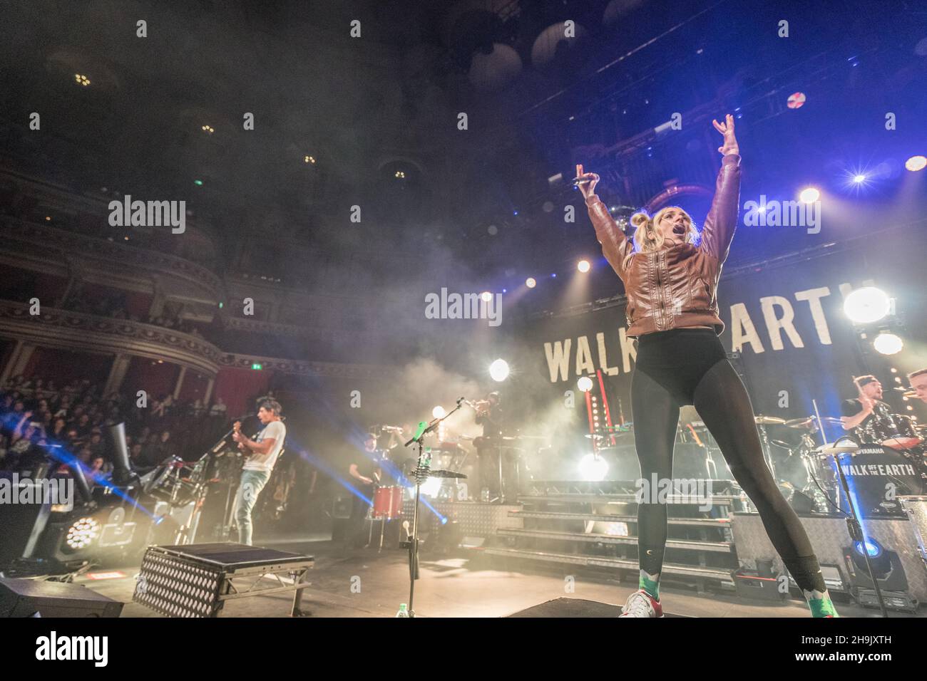
M741 156L737 138L734 137L734 118L730 114L724 123L713 120L717 132L724 135L724 145L717 147L721 152L721 170L717 171L715 196L702 228L700 248L724 262L728 258L730 242L737 228L737 214L741 200Z

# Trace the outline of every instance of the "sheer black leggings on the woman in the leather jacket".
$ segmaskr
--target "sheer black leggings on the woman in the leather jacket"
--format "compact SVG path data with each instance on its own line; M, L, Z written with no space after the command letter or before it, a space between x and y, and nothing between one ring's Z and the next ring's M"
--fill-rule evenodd
M756 505L769 539L804 591L823 592L814 549L795 511L769 473L756 432L753 406L713 329L673 329L638 341L631 380L634 441L641 478L673 476L673 442L679 407L698 411L730 473ZM658 574L667 544L666 503L638 506L641 570Z

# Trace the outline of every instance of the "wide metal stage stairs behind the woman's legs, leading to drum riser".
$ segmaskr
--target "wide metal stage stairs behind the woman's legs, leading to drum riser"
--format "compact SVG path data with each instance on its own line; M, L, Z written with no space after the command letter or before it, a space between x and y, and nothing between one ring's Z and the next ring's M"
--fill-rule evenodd
M667 553L662 578L733 589L737 555L729 511L742 498L728 481L714 481L710 496L673 497L668 504ZM720 492L720 493L718 493ZM499 527L482 546L492 561L579 565L614 578L637 578L637 502L629 482L533 482L509 511L520 528Z

